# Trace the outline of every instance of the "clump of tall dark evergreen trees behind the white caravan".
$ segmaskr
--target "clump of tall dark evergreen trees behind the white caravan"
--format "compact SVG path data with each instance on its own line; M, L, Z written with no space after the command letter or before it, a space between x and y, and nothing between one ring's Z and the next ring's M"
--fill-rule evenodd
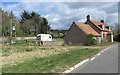
M34 11L31 13L27 11L22 12L21 18L21 29L28 35L47 33L50 30L47 19Z

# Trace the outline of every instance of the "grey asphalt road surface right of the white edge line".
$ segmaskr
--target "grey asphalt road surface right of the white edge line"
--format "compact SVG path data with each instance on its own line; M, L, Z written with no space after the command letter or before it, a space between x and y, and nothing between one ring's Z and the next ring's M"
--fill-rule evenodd
M118 73L118 44L110 46L100 56L70 73Z

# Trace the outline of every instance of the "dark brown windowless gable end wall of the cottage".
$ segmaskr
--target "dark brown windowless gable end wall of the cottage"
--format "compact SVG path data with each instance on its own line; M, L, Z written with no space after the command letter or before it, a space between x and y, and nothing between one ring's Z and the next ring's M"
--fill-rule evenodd
M65 44L85 44L88 36L77 25L73 24L64 37Z

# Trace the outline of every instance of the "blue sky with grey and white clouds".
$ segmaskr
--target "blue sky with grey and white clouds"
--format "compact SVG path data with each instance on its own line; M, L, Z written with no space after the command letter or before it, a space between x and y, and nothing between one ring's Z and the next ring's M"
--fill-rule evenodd
M105 23L110 26L118 23L118 2L117 0L116 2L114 1L81 2L71 0L66 2L35 2L26 0L26 2L10 2L4 0L1 7L5 11L13 11L18 19L20 19L20 14L24 10L29 12L35 11L48 19L52 29L66 30L69 29L72 22L84 23L88 14L92 20L100 21L104 19Z

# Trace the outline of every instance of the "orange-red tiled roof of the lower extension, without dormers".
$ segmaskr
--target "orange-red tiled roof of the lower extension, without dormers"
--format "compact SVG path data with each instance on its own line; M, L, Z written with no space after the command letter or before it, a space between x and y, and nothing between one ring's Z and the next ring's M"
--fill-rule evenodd
M82 29L86 34L92 34L94 36L100 36L98 32L96 32L92 27L87 24L76 23L76 25Z

